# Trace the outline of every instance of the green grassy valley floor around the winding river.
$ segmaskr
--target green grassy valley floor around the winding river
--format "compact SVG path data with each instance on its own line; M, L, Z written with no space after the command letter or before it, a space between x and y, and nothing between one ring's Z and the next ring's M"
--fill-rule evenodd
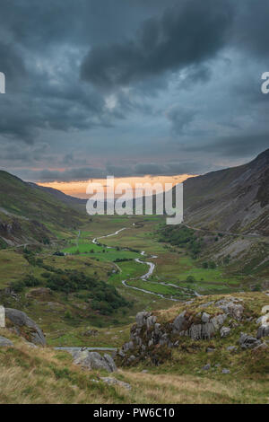
M109 316L101 315L100 312L89 313L88 303L85 302L87 292L69 295L52 292L45 297L32 297L31 291L34 289L31 287L18 294L19 302L9 297L7 304L11 307L20 305L22 310L38 321L47 333L48 344L117 346L125 341L126 327L134 321L136 312L167 309L172 303L171 296L186 300L194 296L194 291L206 295L246 288L245 277L230 275L222 267L202 268L199 260L192 259L183 248L159 242L157 229L162 223L163 218L159 216L94 216L88 224L82 226L80 232L73 230L65 238L62 233L58 233L58 245L44 246L42 251L36 253L37 258L43 259L45 266L81 271L116 287L118 293L132 303L128 308L118 309ZM99 240L111 249L92 243L93 238L115 233L123 227L126 230ZM53 255L58 249L65 251L66 255ZM141 251L145 251L144 256ZM151 259L152 254L157 255L157 258ZM146 281L140 277L148 271L148 266L135 262L136 258L156 264L152 277ZM29 274L43 279L44 269L30 265L23 257L23 250L0 251L0 266L0 290ZM193 277L192 282L187 279L190 276ZM123 280L126 280L129 287L141 288L157 295L127 288L123 286ZM178 288L167 286L168 283ZM88 328L99 330L99 334L85 337L83 333Z

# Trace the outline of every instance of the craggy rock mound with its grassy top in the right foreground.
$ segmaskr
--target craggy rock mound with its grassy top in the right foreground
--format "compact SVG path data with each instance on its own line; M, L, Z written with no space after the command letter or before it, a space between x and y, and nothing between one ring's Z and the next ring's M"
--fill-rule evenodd
M173 350L189 352L189 347L202 354L225 350L240 355L246 349L268 354L269 314L263 314L268 296L252 295L207 296L167 312L139 312L130 341L117 352L117 362L161 365L173 359Z

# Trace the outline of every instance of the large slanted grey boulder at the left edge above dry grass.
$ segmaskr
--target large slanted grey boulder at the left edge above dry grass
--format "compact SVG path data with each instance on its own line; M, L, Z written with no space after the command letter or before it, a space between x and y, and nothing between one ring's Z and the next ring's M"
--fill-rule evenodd
M25 312L5 308L5 325L30 343L45 346L46 339L38 324L32 321Z

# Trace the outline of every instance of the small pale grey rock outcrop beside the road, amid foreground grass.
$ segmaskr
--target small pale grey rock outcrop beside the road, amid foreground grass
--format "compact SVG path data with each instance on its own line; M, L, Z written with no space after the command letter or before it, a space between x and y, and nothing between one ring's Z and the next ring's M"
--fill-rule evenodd
M100 356L97 352L90 352L89 350L78 350L74 353L74 364L81 365L89 370L91 369L105 369L109 373L117 371L117 366L113 358L105 354Z

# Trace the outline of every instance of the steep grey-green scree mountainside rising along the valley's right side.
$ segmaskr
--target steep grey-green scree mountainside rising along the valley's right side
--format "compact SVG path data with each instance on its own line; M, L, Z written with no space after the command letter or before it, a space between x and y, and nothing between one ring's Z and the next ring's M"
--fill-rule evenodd
M184 224L164 227L162 238L188 242L201 262L228 265L253 288L268 288L269 149L250 163L184 181Z

